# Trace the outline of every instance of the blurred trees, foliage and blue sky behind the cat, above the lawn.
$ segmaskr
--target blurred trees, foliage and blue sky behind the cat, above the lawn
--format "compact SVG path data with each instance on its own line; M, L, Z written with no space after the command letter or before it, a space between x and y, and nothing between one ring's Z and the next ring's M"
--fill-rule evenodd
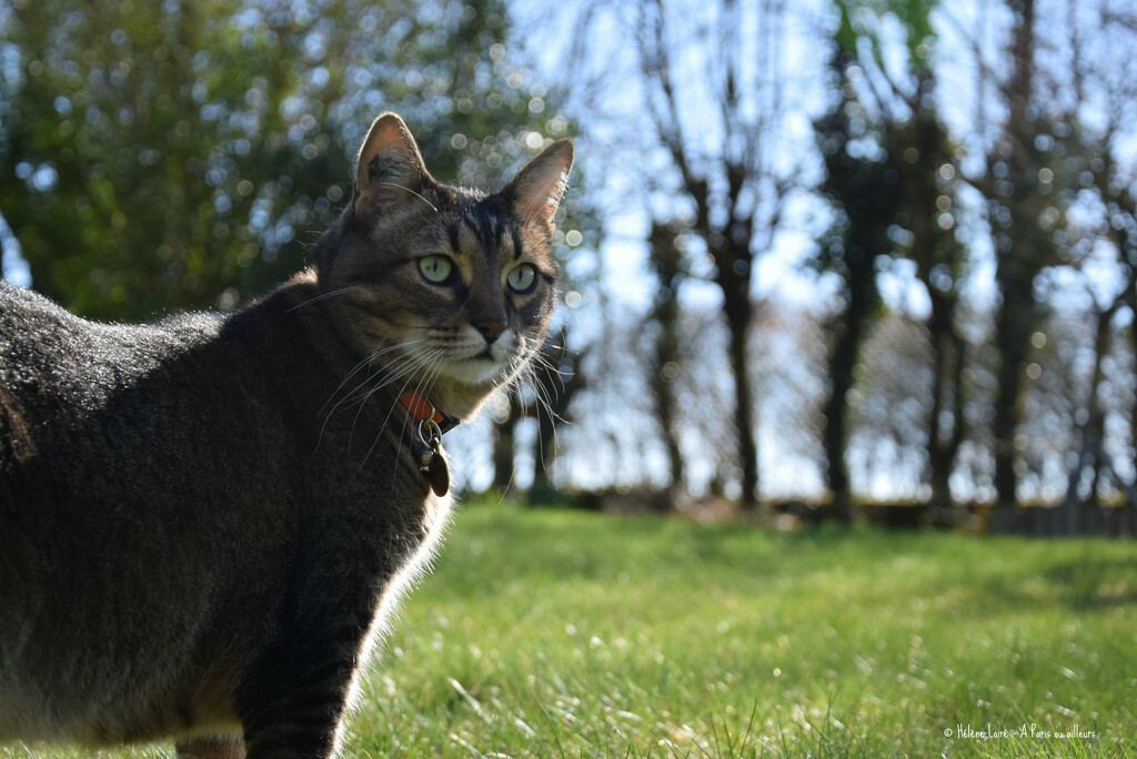
M442 181L548 141L550 372L467 492L1137 534L1137 2L6 0L3 277L227 310L383 110Z

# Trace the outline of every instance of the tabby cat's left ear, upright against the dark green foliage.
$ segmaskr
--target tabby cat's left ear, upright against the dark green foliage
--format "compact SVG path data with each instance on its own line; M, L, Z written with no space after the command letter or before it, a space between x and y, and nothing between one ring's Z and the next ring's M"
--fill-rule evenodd
M356 214L367 216L384 206L404 203L433 182L415 139L402 119L385 112L374 120L356 165Z

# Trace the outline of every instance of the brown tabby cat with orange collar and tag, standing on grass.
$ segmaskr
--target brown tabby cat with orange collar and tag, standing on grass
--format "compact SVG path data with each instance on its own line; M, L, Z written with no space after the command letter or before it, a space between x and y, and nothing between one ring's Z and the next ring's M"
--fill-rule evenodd
M0 283L0 744L338 753L451 508L441 435L547 335L573 151L483 194L384 114L314 266L224 315Z

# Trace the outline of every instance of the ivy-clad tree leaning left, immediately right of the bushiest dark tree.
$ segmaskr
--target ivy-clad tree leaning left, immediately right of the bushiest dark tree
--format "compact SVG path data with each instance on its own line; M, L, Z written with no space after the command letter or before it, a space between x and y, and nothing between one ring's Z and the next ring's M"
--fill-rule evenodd
M896 224L906 233L898 236L897 252L915 264L931 305L926 323L932 358L927 469L938 518L951 519L955 508L949 481L965 432L966 341L957 324L965 251L953 233L958 156L939 117L931 65L938 43L931 23L937 6L935 0L843 2L837 37L864 72L857 91L874 115L878 140L893 157L902 203ZM903 57L888 55L888 43L881 39L882 30L889 28L886 22L902 30L903 39L891 44Z

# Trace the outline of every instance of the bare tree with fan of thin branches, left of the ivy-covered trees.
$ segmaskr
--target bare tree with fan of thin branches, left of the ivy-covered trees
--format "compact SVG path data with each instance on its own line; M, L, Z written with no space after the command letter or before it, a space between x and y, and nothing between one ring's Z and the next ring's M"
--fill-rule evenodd
M722 293L735 378L741 506L748 511L757 508L758 499L757 419L749 368L750 290L757 257L772 243L802 170L779 153L786 116L783 94L791 86L775 43L783 12L780 3L769 1L755 8L723 0L700 8L700 14L706 14L705 28L714 30L720 40L700 53L702 74L696 66L681 68L675 62L698 44L697 36L683 36L682 30L691 26L686 19L677 22L679 9L663 0L645 0L636 28L649 123L657 144L670 158L674 177L661 189L667 191L669 199L678 193L688 207L690 230L713 261L712 280ZM698 100L700 87L711 93L711 102ZM712 119L720 139L708 140L707 127L690 122L688 115L696 111ZM674 201L663 206L667 218L673 216Z

